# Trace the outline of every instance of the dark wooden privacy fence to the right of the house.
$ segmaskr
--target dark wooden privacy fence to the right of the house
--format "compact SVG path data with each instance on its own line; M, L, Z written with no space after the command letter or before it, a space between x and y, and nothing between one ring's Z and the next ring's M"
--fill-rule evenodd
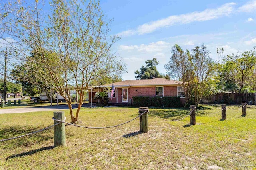
M218 93L212 96L203 97L200 103L203 104L256 104L256 93Z

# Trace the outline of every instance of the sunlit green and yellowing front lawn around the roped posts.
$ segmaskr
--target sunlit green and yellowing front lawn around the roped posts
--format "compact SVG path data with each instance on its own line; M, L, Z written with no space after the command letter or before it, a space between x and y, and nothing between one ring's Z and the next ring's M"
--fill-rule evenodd
M233 109L239 106L230 106ZM207 113L220 105L201 105ZM164 119L184 117L188 109L150 108ZM104 127L128 121L138 108L82 108L79 125ZM167 122L148 115L148 133L140 133L139 120L110 129L66 126L66 147L52 147L53 129L0 143L0 169L255 169L256 107L242 111L196 113ZM53 124L53 111L0 115L0 139L30 133ZM68 122L70 115L66 112Z

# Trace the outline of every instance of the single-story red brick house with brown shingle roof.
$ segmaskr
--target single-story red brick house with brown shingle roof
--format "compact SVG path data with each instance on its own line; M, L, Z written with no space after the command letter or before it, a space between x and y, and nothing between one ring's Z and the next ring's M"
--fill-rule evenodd
M167 80L165 78L154 78L146 80L125 80L122 82L115 82L114 86L116 88L113 98L109 98L110 104L132 104L133 96L168 96L168 97L180 97L180 102L185 103L184 89L182 83L175 80ZM112 84L104 84L94 89L92 96L97 91L103 91L104 89L109 90L109 97L112 88ZM89 102L91 102L89 92ZM92 102L96 102L92 100Z

